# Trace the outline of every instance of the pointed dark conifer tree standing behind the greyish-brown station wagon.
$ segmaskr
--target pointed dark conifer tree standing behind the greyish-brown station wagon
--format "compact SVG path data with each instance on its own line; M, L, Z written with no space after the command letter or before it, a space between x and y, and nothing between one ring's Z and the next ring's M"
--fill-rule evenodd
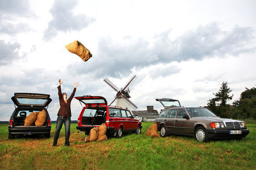
M217 115L225 118L230 117L230 105L227 101L232 100L234 94L229 95L233 90L228 87L228 82L222 82L217 93L213 93L215 98L208 100L208 107Z

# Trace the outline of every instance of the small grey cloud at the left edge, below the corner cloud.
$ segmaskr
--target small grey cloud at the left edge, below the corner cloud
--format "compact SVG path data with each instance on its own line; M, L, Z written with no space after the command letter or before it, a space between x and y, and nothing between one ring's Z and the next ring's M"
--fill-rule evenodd
M18 50L21 45L17 42L5 43L0 40L0 65L10 64L11 61L19 57Z

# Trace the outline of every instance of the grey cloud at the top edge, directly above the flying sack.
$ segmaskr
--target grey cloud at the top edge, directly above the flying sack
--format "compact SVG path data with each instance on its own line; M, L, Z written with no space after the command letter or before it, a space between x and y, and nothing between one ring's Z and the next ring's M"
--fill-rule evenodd
M44 40L55 37L58 31L79 31L95 21L83 14L75 15L73 12L75 5L74 0L54 1L50 10L53 19L49 21L48 28L44 31Z

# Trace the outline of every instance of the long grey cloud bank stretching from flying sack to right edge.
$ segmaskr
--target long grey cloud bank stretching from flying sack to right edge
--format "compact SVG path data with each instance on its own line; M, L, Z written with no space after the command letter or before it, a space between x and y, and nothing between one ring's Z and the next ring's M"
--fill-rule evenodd
M213 22L198 26L175 40L169 37L171 30L155 35L153 41L130 36L116 41L106 36L100 38L97 53L87 62L90 64L86 67L85 63L73 64L69 69L79 74L122 77L129 75L133 67L139 69L159 63L224 57L226 54L237 56L254 51L255 47L247 46L254 39L253 33L251 27L239 26L223 31Z

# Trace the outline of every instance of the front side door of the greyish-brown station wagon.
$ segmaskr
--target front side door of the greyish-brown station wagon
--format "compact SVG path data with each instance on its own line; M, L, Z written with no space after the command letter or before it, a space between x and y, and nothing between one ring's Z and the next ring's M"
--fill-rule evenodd
M187 116L188 118L183 118L183 116ZM176 120L174 122L175 131L181 134L191 134L193 133L194 127L193 124L190 122L190 117L187 114L185 108L179 108Z

